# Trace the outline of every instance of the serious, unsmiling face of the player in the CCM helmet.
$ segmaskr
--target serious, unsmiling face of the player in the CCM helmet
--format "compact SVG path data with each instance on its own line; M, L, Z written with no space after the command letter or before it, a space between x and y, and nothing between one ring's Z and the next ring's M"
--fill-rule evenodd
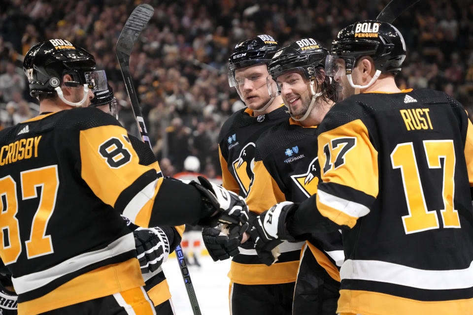
M258 110L270 101L266 85L268 77L266 64L252 65L235 70L236 90L248 108Z

